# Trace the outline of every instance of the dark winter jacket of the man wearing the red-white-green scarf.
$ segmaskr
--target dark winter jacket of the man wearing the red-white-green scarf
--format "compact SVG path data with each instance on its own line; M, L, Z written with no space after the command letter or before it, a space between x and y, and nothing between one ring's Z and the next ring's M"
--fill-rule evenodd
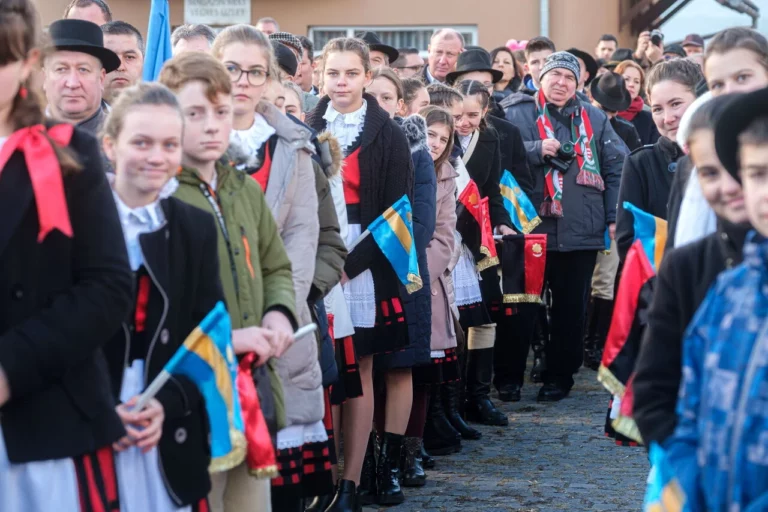
M541 137L536 125L536 100L525 94L512 94L501 105L506 108L507 120L520 129L528 156L528 166L536 179L531 202L538 210L544 200L544 177L548 166L541 156ZM579 174L576 159L563 177L563 217L542 217L534 233L547 235L547 250L568 252L605 249L605 229L616 221L616 202L619 196L621 166L627 155L626 145L613 130L605 113L579 100L561 109L561 115L552 115L552 126L560 142L573 140L570 121L576 108L584 107L592 122L593 136L600 161L600 174L605 190L585 187L576 183ZM556 107L551 107L555 110Z

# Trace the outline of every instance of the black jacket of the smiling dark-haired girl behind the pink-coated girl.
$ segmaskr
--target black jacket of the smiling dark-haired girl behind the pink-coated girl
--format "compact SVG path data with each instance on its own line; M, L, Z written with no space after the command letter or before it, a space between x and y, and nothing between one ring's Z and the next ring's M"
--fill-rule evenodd
M460 145L458 135L456 144ZM498 132L492 127L480 131L475 145L475 151L466 161L469 177L477 184L482 197L488 198L491 213L491 224L504 225L514 229L509 218L504 201L501 197L499 181L501 180L501 143Z

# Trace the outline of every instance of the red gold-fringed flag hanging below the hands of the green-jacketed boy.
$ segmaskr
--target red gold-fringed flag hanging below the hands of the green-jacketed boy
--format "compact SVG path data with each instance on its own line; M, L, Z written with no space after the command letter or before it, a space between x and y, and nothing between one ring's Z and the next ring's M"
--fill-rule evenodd
M264 472L264 477L275 477L277 470L277 457L272 439L269 437L269 429L264 415L261 412L259 395L253 382L251 367L255 355L246 355L237 368L237 393L240 397L240 407L243 411L243 423L245 424L245 439L248 443L246 462L251 473L257 476Z

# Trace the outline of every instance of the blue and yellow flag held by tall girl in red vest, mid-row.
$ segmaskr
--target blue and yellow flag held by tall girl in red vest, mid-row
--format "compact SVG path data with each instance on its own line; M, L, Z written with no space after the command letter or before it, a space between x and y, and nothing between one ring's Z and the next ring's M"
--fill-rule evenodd
M392 264L408 293L419 290L422 282L416 244L413 240L413 213L408 196L401 197L387 208L371 222L368 231Z

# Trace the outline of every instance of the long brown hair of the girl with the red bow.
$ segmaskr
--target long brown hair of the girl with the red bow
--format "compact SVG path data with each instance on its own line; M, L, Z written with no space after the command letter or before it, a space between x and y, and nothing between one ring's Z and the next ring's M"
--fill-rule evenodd
M27 59L39 47L39 19L32 0L0 0L0 66ZM20 84L8 84L18 86L8 119L14 130L45 123L43 104L30 82L27 78ZM51 146L65 176L80 170L80 164L70 151L53 141Z

